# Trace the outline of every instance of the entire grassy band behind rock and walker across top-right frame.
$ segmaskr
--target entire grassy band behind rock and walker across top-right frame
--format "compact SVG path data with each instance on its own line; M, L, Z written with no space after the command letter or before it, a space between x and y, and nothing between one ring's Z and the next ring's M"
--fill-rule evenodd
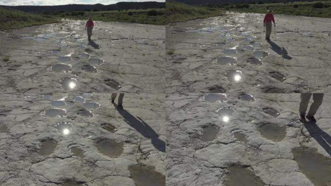
M314 4L318 2L324 4L323 8L314 8ZM226 11L265 14L267 8L271 8L274 11L273 14L331 17L331 0L264 4L220 4L209 6L187 5L173 0L166 0L166 21L173 22L222 16Z

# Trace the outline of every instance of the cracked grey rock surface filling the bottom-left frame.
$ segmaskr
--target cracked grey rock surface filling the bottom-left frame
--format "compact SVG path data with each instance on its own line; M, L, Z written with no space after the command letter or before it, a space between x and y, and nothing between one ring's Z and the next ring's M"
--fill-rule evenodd
M124 109L103 93L0 99L1 186L141 186L140 173L164 186L164 94L126 93Z

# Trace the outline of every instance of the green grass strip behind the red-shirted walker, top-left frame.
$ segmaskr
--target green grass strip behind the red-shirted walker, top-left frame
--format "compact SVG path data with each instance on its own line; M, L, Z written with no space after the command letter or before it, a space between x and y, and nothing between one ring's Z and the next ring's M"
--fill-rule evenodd
M148 13L155 10L156 16L150 16ZM130 16L128 13L131 12ZM69 18L75 20L87 20L88 16L91 16L96 21L119 21L129 23L141 23L141 24L165 24L165 9L146 9L146 10L125 10L125 11L100 11L100 12L66 12L58 15L53 15L57 18Z

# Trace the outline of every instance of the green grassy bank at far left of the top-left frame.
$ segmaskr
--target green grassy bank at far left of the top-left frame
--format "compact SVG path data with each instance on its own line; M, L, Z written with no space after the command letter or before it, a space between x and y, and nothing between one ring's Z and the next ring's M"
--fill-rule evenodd
M52 16L30 14L0 7L0 29L20 28L56 22L58 22L57 19Z

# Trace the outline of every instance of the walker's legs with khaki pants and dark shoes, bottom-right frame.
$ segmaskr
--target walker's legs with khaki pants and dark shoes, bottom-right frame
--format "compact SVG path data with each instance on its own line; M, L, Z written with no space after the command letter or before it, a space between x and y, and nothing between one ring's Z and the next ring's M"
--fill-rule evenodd
M313 94L313 103L310 106L310 109L306 115L306 110L308 108L308 103L310 100L310 97ZM316 123L316 119L314 118L314 115L316 114L317 109L319 108L319 106L322 105L323 102L323 96L324 93L301 93L301 102L300 102L300 108L299 108L299 119L301 122L305 122L305 116L306 118L312 122L312 123Z

